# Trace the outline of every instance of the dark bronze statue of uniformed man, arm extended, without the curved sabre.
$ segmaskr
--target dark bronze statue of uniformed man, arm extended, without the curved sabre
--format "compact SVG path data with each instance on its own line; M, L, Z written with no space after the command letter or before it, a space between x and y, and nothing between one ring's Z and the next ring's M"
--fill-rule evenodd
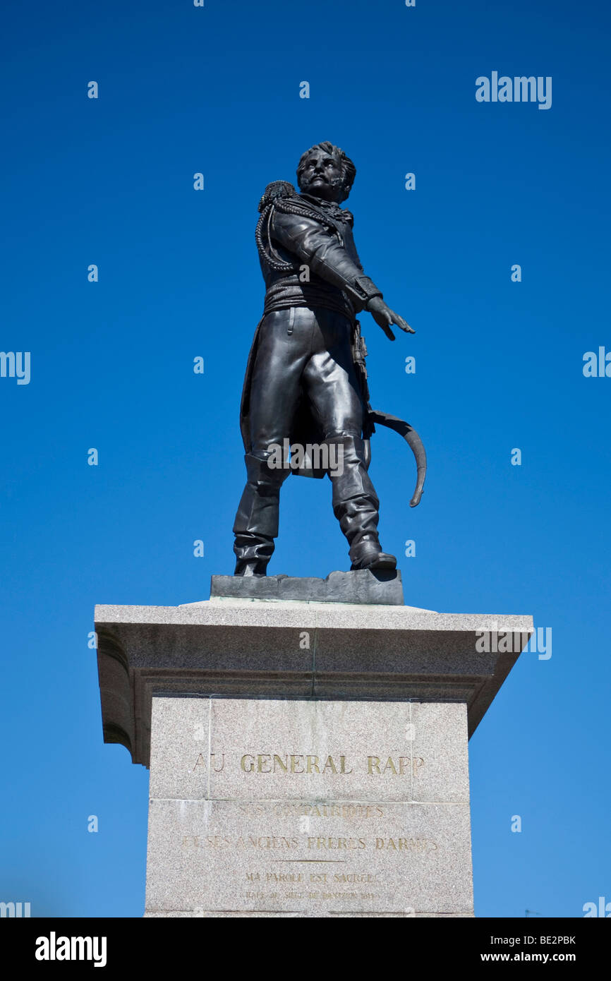
M300 193L275 181L259 205L266 295L242 393L247 483L233 524L236 576L266 575L278 537L280 486L289 473L299 473L286 461L279 467L276 453L272 459L274 447L287 444L327 444L341 460L326 472L351 568L396 567L378 538L380 501L367 472L364 440L373 426L355 315L367 310L391 340L391 324L414 332L363 272L352 215L339 207L355 176L343 150L319 143L299 161Z

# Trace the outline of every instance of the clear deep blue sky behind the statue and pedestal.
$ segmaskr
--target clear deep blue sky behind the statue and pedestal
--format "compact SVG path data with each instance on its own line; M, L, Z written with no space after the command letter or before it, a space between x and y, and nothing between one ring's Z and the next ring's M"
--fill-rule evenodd
M148 774L102 744L93 607L205 599L232 571L257 203L331 139L365 271L417 331L390 344L361 317L372 403L429 455L412 510L413 461L374 438L406 602L552 629L471 741L476 913L611 900L611 379L583 374L611 350L608 9L12 2L4 22L0 347L31 378L0 378L0 899L142 914ZM551 108L477 102L492 71L552 77ZM289 480L270 572L346 563L331 485Z

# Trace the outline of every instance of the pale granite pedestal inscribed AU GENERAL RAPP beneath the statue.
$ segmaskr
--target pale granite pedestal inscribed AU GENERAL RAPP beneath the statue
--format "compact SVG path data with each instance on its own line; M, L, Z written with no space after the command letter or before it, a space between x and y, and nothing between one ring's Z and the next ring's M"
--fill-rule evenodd
M150 766L146 916L473 915L468 739L532 619L356 575L96 607L104 739Z

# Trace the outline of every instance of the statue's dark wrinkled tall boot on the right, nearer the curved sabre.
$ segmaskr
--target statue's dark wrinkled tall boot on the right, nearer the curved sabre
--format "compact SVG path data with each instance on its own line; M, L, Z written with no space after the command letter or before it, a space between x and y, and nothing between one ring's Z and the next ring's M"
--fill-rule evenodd
M380 500L365 465L363 440L341 436L325 442L337 446L337 471L329 471L333 514L350 545L351 570L395 569L396 558L382 551L378 538Z

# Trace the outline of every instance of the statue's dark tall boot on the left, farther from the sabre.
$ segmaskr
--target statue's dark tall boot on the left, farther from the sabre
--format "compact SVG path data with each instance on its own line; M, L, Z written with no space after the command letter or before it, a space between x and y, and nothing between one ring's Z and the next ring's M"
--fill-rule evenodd
M269 455L244 455L247 481L233 522L234 576L267 575L278 538L280 487L288 470L269 467Z

